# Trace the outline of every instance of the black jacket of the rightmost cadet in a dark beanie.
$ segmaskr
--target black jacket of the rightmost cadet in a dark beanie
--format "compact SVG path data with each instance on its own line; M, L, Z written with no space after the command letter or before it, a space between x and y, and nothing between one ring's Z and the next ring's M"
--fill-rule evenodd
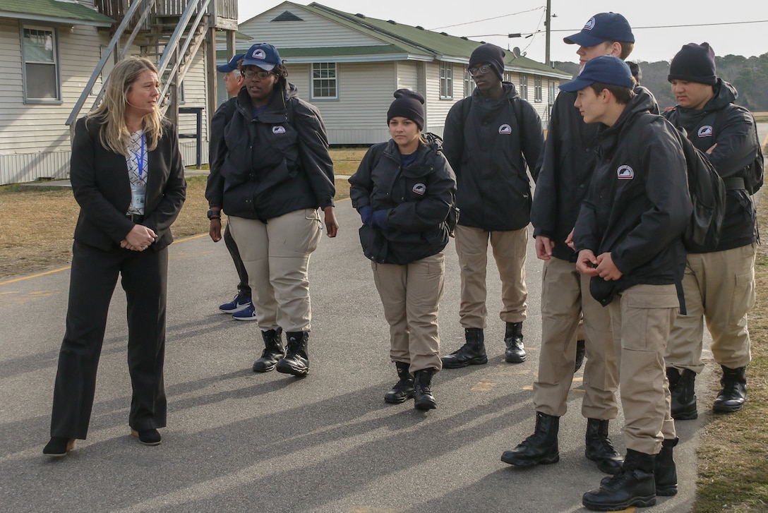
M746 108L734 105L738 93L728 82L720 79L715 96L698 111L679 105L664 113L677 127L685 129L688 139L705 152L717 144L707 155L726 180L725 219L717 247L710 251L732 250L757 240L755 209L749 194L743 188L728 187L728 178L744 177L746 166L757 154L756 127L752 114Z

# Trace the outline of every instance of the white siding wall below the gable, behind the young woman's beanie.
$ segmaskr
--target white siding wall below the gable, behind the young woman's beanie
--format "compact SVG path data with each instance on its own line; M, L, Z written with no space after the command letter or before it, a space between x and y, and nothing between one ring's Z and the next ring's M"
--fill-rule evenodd
M393 62L339 64L339 99L315 100L330 144L373 144L387 141L386 111L397 89ZM310 65L288 65L288 80L299 97L310 101Z

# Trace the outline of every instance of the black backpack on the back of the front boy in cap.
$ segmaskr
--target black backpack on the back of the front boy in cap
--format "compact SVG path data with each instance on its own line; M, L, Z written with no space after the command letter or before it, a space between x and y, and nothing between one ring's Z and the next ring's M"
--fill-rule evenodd
M688 194L694 211L683 233L688 253L705 253L717 247L725 217L725 184L717 170L680 128L679 139L685 154Z

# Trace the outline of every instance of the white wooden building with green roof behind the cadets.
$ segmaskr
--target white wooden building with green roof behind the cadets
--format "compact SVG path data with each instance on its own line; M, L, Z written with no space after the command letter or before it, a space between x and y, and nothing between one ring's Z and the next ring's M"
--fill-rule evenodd
M331 144L386 141L386 111L398 88L425 97L425 131L442 135L445 116L472 92L471 41L422 27L368 18L318 3L283 2L238 25L251 43L268 42L286 61L300 98L323 115ZM247 46L238 42L238 51ZM217 52L226 61L225 52ZM505 80L538 111L545 127L561 81L571 75L507 52Z

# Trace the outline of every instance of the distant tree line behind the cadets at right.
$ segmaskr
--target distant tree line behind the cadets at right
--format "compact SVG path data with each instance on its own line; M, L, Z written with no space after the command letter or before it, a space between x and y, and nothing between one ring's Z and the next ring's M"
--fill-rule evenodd
M629 61L632 59L629 58ZM641 69L641 84L648 88L656 97L659 108L674 107L672 91L670 90L667 74L669 61L638 62ZM736 103L753 112L768 111L768 53L759 57L743 57L742 55L726 55L715 57L717 76L730 82L739 92ZM555 62L554 67L566 73L578 73L578 64L573 62Z

